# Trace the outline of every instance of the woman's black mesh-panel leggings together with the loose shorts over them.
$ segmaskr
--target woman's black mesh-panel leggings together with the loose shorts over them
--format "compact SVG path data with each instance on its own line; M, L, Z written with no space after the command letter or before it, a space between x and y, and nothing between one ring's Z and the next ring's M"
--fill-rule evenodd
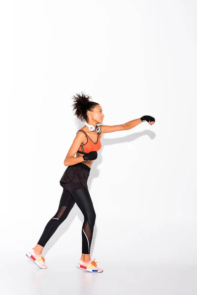
M45 246L47 241L66 219L70 210L76 203L84 215L84 223L82 226L82 253L90 254L96 213L87 187L90 168L85 165L88 168L87 169L83 165L85 164L78 163L78 165L68 166L64 176L61 178L60 183L61 185L63 184L62 186L64 188L58 211L45 226L45 229L37 242L40 246ZM70 179L71 181L68 181ZM74 187L77 189L73 190Z

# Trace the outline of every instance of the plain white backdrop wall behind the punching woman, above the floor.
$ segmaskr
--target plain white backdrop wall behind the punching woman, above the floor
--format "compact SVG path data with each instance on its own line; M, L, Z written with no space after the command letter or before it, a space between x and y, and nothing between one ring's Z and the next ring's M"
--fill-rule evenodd
M0 28L1 253L24 257L56 213L84 91L103 124L156 119L101 138L91 257L196 266L197 2L4 0ZM78 262L82 223L75 205L48 263Z

